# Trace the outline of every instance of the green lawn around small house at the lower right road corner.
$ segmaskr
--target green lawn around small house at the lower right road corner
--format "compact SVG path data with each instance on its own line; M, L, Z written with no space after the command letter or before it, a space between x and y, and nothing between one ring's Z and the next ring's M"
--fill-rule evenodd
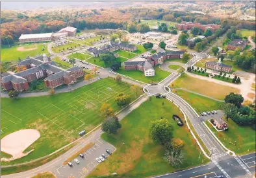
M235 151L238 155L255 152L255 130L250 126L239 126L232 119L227 121L224 118L224 120L227 122L227 131L216 131L211 123L208 121L205 123L229 150ZM236 145L234 145L235 141Z

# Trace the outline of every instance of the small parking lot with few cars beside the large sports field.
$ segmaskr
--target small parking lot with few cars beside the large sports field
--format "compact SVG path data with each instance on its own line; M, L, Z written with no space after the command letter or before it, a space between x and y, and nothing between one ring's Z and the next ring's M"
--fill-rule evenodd
M75 163L75 161L71 161L73 166L60 166L55 170L54 174L56 175L56 177L65 178L85 177L86 175L88 175L88 173L94 170L94 168L96 168L97 164L101 164L96 161L96 158L99 158L102 154L105 154L107 157L111 156L106 152L107 149L110 150L112 153L116 150L114 146L99 138L97 139L94 146L92 146L92 148L83 153L84 158L76 158L79 161L79 164ZM107 161L107 159L105 161Z

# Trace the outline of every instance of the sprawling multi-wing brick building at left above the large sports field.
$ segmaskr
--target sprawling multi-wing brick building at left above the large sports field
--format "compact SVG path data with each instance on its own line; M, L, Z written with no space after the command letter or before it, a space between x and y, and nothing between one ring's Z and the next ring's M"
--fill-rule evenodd
M45 54L34 58L28 56L18 64L18 66L21 65L25 66L27 70L13 74L9 73L1 77L3 89L24 91L29 89L29 83L40 78L44 78L46 87L55 88L62 84L70 85L76 82L77 78L83 76L83 69L79 67L62 69L57 67L54 61L50 61Z

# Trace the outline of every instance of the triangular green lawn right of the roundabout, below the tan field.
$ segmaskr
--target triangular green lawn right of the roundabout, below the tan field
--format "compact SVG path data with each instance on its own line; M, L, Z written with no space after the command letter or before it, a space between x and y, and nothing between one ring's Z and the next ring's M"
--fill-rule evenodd
M209 110L218 110L220 109L220 104L222 102L217 102L210 98L204 96L196 95L188 91L175 90L175 94L181 96L188 104L190 104L198 113L209 111Z

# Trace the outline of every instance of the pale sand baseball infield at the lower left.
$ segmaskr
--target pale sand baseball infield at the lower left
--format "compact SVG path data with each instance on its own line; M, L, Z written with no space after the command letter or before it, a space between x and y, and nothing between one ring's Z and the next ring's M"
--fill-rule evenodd
M39 138L40 133L36 129L21 129L15 131L1 139L1 151L12 155L11 160L19 159L28 154L23 153L23 151ZM29 151L29 153L30 152L31 151ZM7 161L6 159L1 160Z

